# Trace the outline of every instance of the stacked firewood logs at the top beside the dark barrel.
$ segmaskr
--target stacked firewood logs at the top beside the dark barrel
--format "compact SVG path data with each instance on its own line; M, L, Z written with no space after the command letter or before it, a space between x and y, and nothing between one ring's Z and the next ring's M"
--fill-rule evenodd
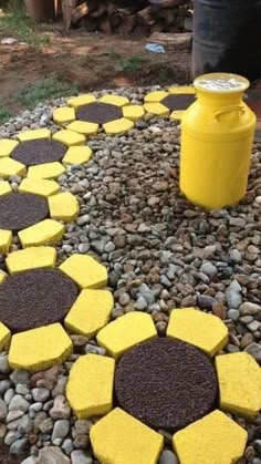
M184 32L192 0L62 0L66 28L90 32Z

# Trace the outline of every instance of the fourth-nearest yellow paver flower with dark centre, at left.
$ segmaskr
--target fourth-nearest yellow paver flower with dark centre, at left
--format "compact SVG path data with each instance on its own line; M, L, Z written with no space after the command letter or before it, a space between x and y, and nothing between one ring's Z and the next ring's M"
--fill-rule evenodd
M0 141L0 177L11 175L33 178L56 178L70 164L87 163L92 151L85 137L73 131L60 131L51 137L49 130L25 131L19 142Z

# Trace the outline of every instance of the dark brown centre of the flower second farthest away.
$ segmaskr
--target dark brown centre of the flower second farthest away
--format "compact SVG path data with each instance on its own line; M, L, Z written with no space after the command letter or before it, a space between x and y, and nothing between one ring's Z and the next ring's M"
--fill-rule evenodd
M123 117L123 110L109 103L93 102L77 111L79 120L94 124L106 124L121 117Z

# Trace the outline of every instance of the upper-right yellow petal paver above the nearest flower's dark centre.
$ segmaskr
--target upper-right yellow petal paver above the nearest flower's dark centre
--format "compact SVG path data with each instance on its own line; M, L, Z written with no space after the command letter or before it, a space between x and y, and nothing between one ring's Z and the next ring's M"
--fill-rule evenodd
M167 336L191 343L210 357L228 343L228 329L225 323L217 316L194 308L171 311Z

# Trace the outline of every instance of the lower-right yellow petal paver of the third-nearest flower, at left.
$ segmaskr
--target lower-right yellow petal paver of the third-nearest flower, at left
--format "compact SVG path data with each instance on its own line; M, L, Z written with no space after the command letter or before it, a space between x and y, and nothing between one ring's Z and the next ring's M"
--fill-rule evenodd
M64 226L53 219L44 219L18 233L23 248L40 245L56 245L63 237Z

